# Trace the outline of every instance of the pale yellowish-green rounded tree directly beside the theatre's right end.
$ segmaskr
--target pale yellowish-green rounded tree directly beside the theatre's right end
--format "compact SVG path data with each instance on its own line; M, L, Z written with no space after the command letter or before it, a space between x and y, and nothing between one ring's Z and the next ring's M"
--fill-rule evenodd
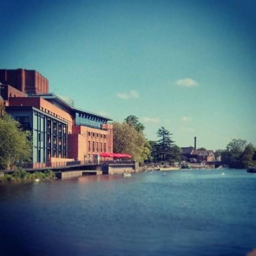
M147 141L143 132L125 122L113 122L113 152L131 154L134 159L143 162L147 159Z

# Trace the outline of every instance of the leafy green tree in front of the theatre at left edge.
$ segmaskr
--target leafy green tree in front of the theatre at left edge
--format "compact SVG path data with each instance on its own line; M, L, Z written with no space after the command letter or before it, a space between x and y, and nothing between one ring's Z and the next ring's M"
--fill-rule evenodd
M3 113L0 118L0 166L7 168L17 162L31 161L30 132L22 131L19 122Z

